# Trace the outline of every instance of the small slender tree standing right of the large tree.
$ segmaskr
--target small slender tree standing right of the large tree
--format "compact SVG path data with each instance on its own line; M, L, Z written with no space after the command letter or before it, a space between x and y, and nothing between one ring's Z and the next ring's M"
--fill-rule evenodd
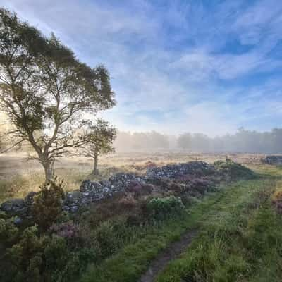
M100 154L114 152L113 142L116 139L116 128L102 119L97 120L95 125L90 126L87 133L87 142L83 146L82 155L94 159L94 175L98 174L97 164Z

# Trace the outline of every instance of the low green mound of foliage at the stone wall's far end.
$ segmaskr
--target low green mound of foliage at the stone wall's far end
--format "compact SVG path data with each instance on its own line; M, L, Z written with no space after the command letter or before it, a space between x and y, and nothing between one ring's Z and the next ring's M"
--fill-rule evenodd
M250 170L250 168L247 168L242 164L235 163L234 161L216 161L214 166L217 170L226 173L232 179L251 179L255 177L255 173Z

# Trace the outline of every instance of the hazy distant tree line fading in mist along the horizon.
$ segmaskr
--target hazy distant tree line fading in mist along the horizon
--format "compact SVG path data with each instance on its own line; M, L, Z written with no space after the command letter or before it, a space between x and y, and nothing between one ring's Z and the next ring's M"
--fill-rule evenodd
M185 150L187 152L249 152L262 154L282 153L282 128L267 132L239 128L231 135L209 137L203 133L183 133L178 136L151 131L130 133L119 131L114 147L117 151L143 149Z

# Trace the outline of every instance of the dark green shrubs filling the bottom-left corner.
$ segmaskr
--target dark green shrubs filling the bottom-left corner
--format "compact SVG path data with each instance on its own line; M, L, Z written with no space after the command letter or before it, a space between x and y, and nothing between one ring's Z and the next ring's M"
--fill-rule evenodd
M40 236L36 226L19 231L8 219L0 219L0 236L0 281L3 282L73 281L97 257L92 249L71 249L60 236Z

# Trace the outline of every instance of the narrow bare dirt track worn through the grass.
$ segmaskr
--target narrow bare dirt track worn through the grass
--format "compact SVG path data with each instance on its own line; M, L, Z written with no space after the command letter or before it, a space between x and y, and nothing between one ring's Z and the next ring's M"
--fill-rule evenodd
M160 252L138 282L153 282L169 262L187 250L195 235L197 235L197 231L188 231L180 240L171 243L166 250Z

